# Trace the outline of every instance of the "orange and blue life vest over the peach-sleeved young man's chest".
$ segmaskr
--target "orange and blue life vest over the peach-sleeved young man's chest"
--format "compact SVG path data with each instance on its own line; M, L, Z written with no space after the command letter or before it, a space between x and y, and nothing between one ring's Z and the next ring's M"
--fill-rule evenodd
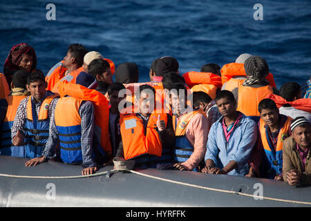
M176 135L174 160L176 160L176 162L186 162L192 153L194 153L194 146L186 137L186 129L191 119L197 114L205 115L202 111L192 111L182 115L177 122L176 116L173 116L173 125ZM194 171L196 171L196 169L194 169Z

